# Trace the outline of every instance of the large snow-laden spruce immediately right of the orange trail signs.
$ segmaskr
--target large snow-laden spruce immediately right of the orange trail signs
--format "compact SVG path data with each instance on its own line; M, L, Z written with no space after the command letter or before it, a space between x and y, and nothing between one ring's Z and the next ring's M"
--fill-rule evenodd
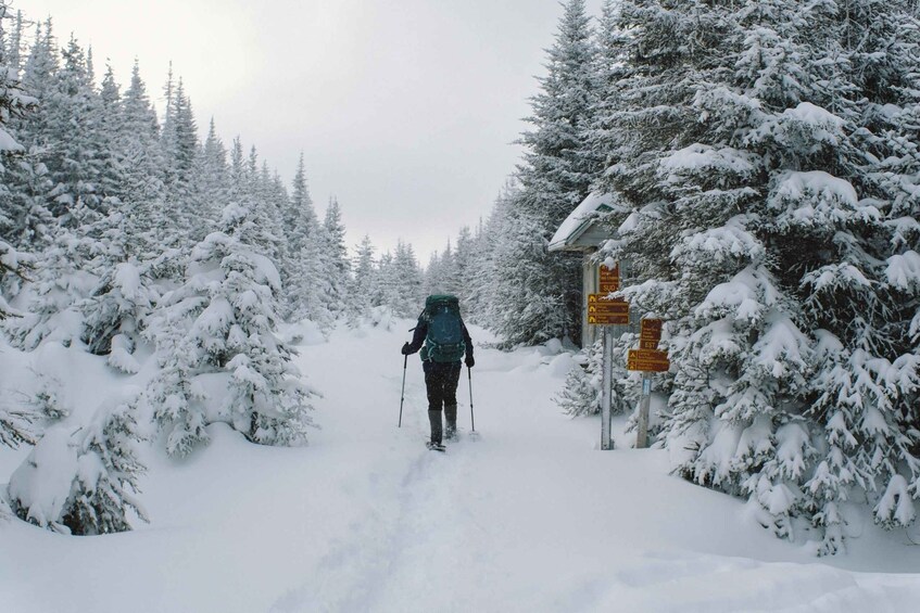
M789 17L790 5L761 15L753 31ZM765 525L791 537L814 454L803 418L812 354L797 288L777 277L787 269L779 246L796 237L767 238L764 194L784 167L828 158L821 137L830 126L808 129L797 102L786 112L807 81L782 91L784 78L769 78L778 54L759 55L768 66L753 74L735 67L749 49L741 23L749 7L732 9L623 3L631 66L613 125L628 149L608 177L632 214L608 246L635 280L622 294L668 321L675 374L665 438L679 471L746 494ZM784 44L782 58L801 59L795 41ZM777 132L802 138L758 139Z

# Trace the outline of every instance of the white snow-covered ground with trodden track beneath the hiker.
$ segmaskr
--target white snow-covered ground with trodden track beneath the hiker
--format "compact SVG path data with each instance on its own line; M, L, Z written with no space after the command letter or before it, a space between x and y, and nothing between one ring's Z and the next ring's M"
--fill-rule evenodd
M446 454L426 450L416 356L396 427L399 348L412 325L339 329L301 347L307 382L324 393L306 447L260 447L212 426L211 446L189 459L148 450L141 499L152 523L136 532L64 537L0 520L0 611L920 606L917 529L884 533L856 516L848 552L819 560L759 528L742 502L670 476L664 451L629 449L622 421L617 449L598 450L598 422L570 420L551 400L568 354L480 347L480 436L468 435L464 374L464 436ZM22 372L10 352L0 366ZM125 381L97 358L71 359L59 375L79 384L78 405ZM26 452L0 451L0 480Z

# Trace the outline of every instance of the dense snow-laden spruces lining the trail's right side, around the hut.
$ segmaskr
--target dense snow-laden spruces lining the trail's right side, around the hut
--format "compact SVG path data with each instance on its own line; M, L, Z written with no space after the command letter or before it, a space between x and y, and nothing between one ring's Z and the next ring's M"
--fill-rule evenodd
M859 501L917 518L919 26L906 0L567 1L474 265L505 344L577 340L581 264L546 246L609 194L596 258L666 321L654 432L676 472L818 553ZM622 410L637 341L615 348ZM583 361L574 414L598 406L598 347Z

